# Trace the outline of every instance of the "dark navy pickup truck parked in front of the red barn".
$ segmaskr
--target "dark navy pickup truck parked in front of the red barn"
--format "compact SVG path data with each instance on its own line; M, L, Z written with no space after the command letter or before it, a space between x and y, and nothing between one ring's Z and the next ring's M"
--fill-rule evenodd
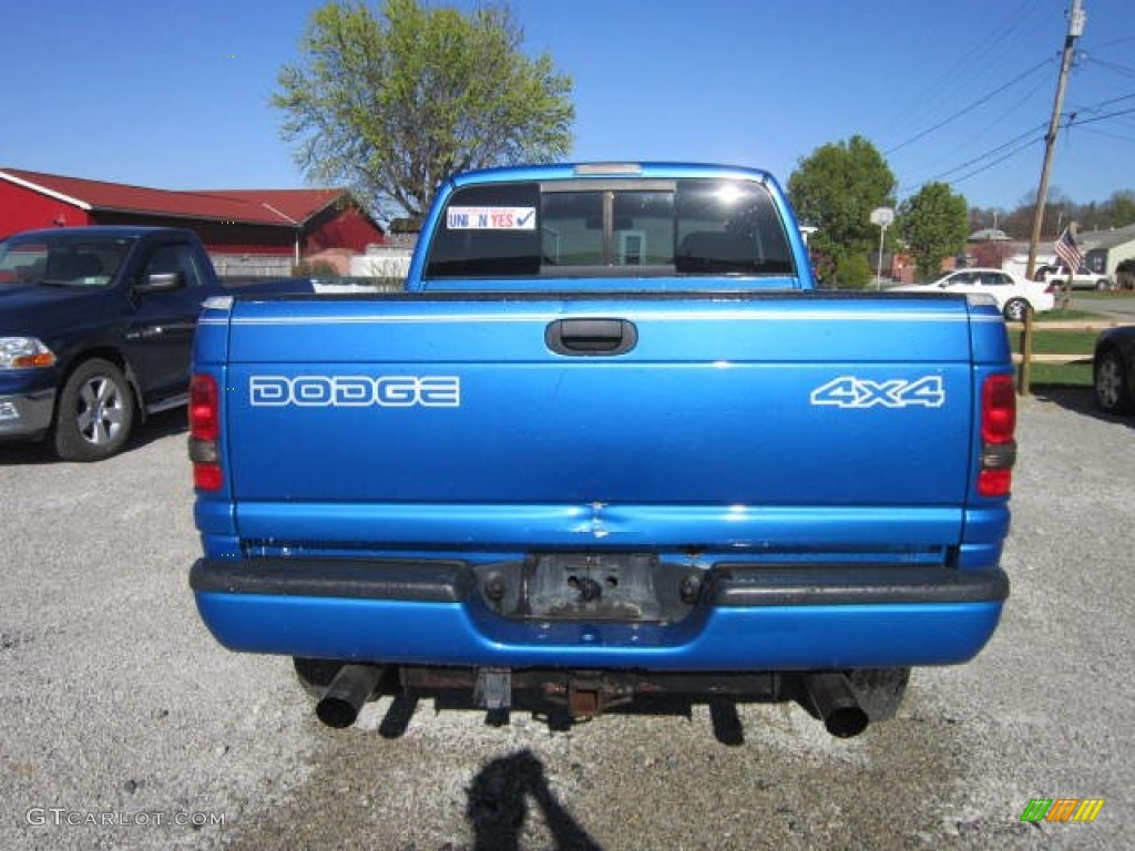
M202 303L232 292L191 230L58 228L0 242L0 439L50 436L69 461L114 455L146 414L186 403Z

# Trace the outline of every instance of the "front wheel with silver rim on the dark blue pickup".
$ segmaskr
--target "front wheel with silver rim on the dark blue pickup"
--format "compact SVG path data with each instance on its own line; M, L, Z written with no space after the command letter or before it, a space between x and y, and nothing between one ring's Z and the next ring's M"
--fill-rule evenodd
M64 384L56 410L54 447L64 461L101 461L123 448L134 424L134 395L110 361L92 357Z

